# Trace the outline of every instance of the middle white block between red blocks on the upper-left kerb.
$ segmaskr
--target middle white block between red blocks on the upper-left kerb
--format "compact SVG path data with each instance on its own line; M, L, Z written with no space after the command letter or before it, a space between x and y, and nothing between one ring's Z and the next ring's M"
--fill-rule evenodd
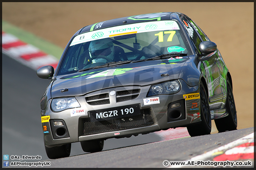
M9 51L14 56L20 57L24 54L36 53L40 50L34 47L33 45L27 44L27 45L21 45L18 47L11 47L7 51Z

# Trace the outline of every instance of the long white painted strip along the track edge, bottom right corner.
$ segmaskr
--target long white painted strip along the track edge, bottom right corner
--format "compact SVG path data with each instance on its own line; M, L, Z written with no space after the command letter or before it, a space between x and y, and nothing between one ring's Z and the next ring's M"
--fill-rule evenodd
M211 157L212 154L215 152L220 152L220 151L223 151L226 149L230 149L230 148L233 148L235 146L238 146L238 145L241 145L241 144L247 143L247 142L252 143L253 141L254 141L254 132L251 133L250 135L242 137L236 141L230 142L230 143L223 145L219 148L213 149L212 151L209 151L204 154L197 155L191 159L185 160L184 162L185 162L185 164L187 164L189 161L191 162L191 161L197 161L197 160L205 160L205 159ZM168 166L167 168L181 168L182 166L186 166L186 165L174 165L174 166Z

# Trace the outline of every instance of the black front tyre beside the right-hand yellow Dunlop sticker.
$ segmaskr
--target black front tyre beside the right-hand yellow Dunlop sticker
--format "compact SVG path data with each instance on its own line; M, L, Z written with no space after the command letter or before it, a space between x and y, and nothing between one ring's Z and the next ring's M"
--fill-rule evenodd
M187 126L188 134L191 137L193 136L201 136L201 135L209 135L212 131L212 119L210 116L210 107L208 102L208 97L206 94L205 87L201 82L200 85L200 115L201 122L195 123L194 125Z

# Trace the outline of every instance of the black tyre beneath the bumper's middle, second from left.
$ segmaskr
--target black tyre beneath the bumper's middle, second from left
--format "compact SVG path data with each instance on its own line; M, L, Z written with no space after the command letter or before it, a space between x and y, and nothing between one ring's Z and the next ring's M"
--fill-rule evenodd
M100 152L104 146L104 140L81 141L84 152Z

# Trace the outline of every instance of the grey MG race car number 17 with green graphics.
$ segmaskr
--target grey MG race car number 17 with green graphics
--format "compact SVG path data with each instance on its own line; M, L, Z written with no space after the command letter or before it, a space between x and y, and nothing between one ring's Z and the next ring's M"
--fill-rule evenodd
M235 130L232 79L217 45L178 12L112 19L78 30L41 99L49 158L85 152L108 138L187 127L191 136Z

